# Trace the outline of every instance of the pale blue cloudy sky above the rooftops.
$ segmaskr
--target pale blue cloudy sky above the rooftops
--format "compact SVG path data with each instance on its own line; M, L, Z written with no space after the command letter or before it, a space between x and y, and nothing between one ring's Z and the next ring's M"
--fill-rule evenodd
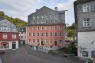
M20 18L28 21L28 15L47 6L51 9L58 7L58 10L66 11L65 22L71 25L74 19L73 2L75 0L0 0L0 11L13 18Z

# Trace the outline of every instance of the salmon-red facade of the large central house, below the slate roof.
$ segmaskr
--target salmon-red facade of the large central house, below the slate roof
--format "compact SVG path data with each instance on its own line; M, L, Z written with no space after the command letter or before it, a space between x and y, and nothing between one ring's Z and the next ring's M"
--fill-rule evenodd
M57 27L57 29L55 29ZM60 29L60 27L62 27ZM35 36L33 36L33 33ZM39 36L37 35L39 33ZM42 36L43 33L43 36ZM48 36L46 36L46 33ZM52 33L52 36L50 36ZM57 36L55 36L55 33ZM59 36L62 33L62 36ZM65 25L49 25L49 26L27 26L26 44L38 46L64 46ZM34 42L33 42L34 40ZM37 41L39 40L39 42ZM46 43L47 40L47 43ZM51 43L52 40L52 43ZM60 43L60 40L62 41Z

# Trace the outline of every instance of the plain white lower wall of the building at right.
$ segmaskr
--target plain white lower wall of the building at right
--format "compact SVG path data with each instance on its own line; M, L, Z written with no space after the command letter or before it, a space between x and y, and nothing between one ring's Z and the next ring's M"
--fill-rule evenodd
M80 46L86 49L80 49ZM88 51L91 58L92 50L95 50L95 32L78 32L78 56L82 57L80 51Z

